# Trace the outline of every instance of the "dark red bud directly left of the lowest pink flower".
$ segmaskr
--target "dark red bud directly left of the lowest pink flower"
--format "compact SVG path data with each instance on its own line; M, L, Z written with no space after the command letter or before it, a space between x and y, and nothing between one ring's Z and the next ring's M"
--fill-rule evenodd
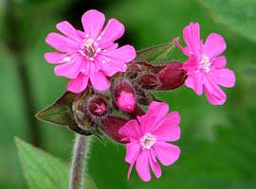
M117 143L125 143L121 141L124 136L119 134L119 129L124 126L129 120L116 116L116 115L108 115L101 122L101 129L105 132L105 134L116 141Z

